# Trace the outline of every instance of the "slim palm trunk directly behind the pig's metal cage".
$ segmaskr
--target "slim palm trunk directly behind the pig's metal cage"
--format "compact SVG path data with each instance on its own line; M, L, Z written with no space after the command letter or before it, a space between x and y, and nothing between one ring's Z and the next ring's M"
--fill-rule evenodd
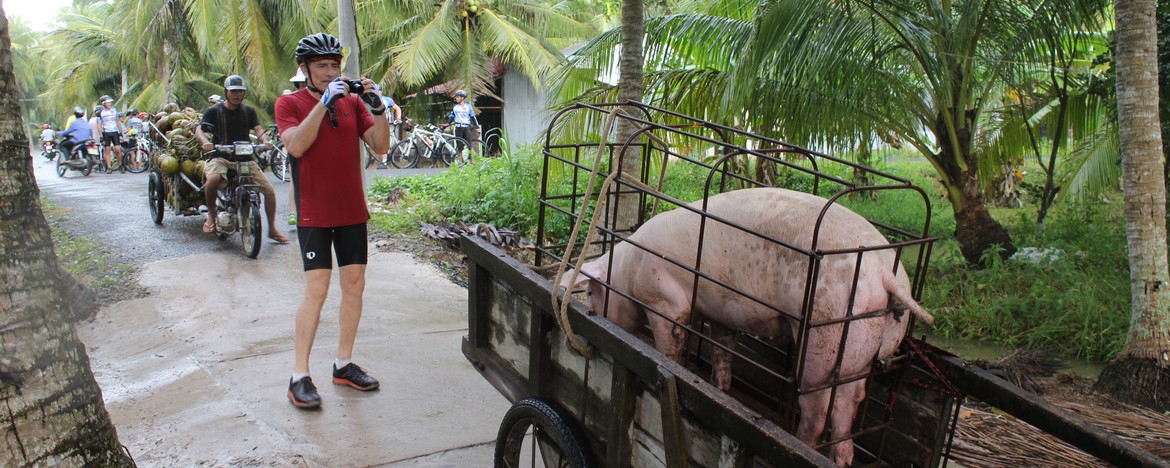
M646 36L644 25L644 0L621 1L621 56L619 58L620 73L618 76L618 101L641 101L642 99L642 68L645 56L642 54L642 40ZM639 116L635 109L627 110L631 116ZM617 140L613 142L620 150L622 144L636 131L633 123L628 121L618 122ZM631 142L636 144L638 142ZM638 179L641 173L641 146L631 146L620 154L622 178ZM628 190L628 188L627 188ZM638 195L635 193L624 193L619 195L617 202L617 229L632 228L638 223Z

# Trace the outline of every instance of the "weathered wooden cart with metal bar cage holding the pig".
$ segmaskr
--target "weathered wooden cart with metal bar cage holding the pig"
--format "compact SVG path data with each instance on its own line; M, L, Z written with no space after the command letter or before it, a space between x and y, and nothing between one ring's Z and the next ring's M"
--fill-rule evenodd
M866 397L848 435L832 440L826 434L812 445L791 435L799 418L796 400L805 392L835 391L835 385L845 383L818 388L800 385L804 337L810 328L826 326L823 323L801 321L800 332L785 344L738 333L732 385L727 392L708 381L714 340L710 324L702 319L679 324L686 328L688 342L683 358L675 363L654 349L647 330L626 332L606 319L605 311L590 310L572 300L564 323L587 344L590 357L574 351L566 344L566 326L558 324L552 308L552 284L538 271L546 273L566 252L564 236L550 232L600 209L590 204L581 208L590 193L591 160L601 158L603 167L620 170L625 161L619 156L634 151L640 164L638 180L622 174L607 191L592 195L594 201L604 198L611 202L600 215L598 238L586 238L593 239L583 248L587 254L607 252L641 222L665 211L663 205L690 201L662 190L668 185L663 174L672 164L701 173L703 197L758 186L799 186L838 204L878 193L908 194L909 202L924 204L927 220L929 202L904 179L646 104L577 104L553 117L548 135L560 135L564 123L572 119L594 124L626 121L634 130L624 133L629 135L626 140L613 143L598 137L610 135L608 129L571 143L549 138L536 264L523 264L481 239L461 239L469 264L463 353L512 402L501 422L495 466L833 466L824 454L842 442L853 443L854 466L945 466L957 410L969 395L1110 463L1165 466L1033 394L909 338L913 328L893 358L876 363L860 377ZM632 226L615 221L622 202L627 204L625 209L632 205L636 212ZM888 248L897 250L918 297L934 242L929 225L908 229L867 219L890 240ZM810 262L814 268L833 254L840 253L814 253ZM815 281L808 283L810 290L815 287ZM842 322L847 329L849 319L835 323Z

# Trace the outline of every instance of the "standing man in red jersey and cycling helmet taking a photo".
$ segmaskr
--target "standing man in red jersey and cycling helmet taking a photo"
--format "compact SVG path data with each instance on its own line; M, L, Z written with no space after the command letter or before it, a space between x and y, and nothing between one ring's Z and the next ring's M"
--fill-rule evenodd
M333 384L360 391L379 385L378 379L352 362L362 319L370 220L360 145L364 140L376 154L388 152L390 125L381 117L386 105L372 81L363 77L363 92L350 94L342 76L342 43L337 37L318 33L302 39L296 47L296 61L304 74L305 88L276 99L276 128L284 149L292 156L296 229L305 282L304 298L296 314L296 352L288 398L298 408L315 408L321 406L321 395L309 377L309 353L329 292L333 254L342 288L338 308L342 332L333 360Z

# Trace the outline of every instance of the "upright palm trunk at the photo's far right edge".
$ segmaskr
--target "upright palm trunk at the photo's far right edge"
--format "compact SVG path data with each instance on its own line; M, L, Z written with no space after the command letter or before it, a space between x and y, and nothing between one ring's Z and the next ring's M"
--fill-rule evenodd
M1166 259L1165 173L1158 119L1157 29L1154 0L1117 0L1117 130L1133 305L1126 347L1097 387L1170 411L1170 270Z

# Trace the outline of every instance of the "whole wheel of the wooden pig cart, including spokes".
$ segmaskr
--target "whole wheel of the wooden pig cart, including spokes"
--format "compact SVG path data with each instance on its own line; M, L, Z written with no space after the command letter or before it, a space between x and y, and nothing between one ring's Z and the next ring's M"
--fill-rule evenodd
M539 398L519 400L504 414L495 460L496 468L597 466L577 421L556 402Z

